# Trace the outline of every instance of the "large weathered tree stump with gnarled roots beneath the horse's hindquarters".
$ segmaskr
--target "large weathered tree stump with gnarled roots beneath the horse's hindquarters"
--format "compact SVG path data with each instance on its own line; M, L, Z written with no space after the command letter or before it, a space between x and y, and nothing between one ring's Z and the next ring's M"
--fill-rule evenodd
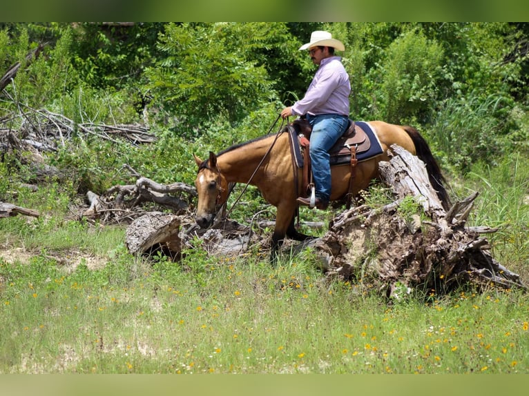
M436 294L468 283L526 289L519 275L492 258L481 234L495 230L465 227L477 192L445 212L423 162L403 148L393 148L394 157L381 162L380 171L398 200L378 210L346 210L331 221L323 237L304 244L315 248L327 273L354 278L388 296L401 286ZM415 198L422 216L419 211L402 214L400 205L407 196Z

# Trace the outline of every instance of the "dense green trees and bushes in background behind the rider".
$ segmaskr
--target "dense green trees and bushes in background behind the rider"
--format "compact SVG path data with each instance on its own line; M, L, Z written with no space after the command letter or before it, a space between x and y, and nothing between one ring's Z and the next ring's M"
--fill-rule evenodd
M154 150L174 141L218 149L266 132L276 110L303 95L314 66L298 48L311 30L325 28L345 42L353 118L420 126L458 175L484 158L495 164L528 150L526 23L0 27L0 70L46 44L2 92L3 115L23 104L75 120L131 122L144 121L146 110L160 135ZM180 154L171 163L186 163L189 152ZM175 177L189 180L178 171Z

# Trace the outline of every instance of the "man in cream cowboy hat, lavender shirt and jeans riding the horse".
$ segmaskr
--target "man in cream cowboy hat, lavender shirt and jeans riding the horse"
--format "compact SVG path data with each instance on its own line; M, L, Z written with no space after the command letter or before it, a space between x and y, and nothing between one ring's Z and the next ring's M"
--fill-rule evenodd
M345 46L322 30L312 32L310 42L300 47L309 50L316 65L316 75L303 99L281 111L283 119L289 116L307 117L312 126L310 159L316 187L316 208L325 210L331 197L331 166L329 150L347 129L349 119L349 93L351 84L341 57L334 50L344 51ZM299 197L298 202L310 206L310 199Z

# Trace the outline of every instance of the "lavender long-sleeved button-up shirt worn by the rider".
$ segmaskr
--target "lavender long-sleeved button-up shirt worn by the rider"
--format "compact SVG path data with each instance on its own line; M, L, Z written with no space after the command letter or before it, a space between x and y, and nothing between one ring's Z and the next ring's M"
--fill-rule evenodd
M349 75L341 57L322 59L305 97L292 106L293 115L339 114L349 116Z

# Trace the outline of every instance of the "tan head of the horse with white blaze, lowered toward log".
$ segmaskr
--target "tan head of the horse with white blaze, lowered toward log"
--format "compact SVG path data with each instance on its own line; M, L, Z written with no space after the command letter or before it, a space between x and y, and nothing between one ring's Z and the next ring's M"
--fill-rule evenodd
M195 218L200 228L208 228L213 224L215 215L228 199L228 183L220 172L217 156L209 152L209 159L202 161L196 155L198 165L195 187L198 192L197 216Z

